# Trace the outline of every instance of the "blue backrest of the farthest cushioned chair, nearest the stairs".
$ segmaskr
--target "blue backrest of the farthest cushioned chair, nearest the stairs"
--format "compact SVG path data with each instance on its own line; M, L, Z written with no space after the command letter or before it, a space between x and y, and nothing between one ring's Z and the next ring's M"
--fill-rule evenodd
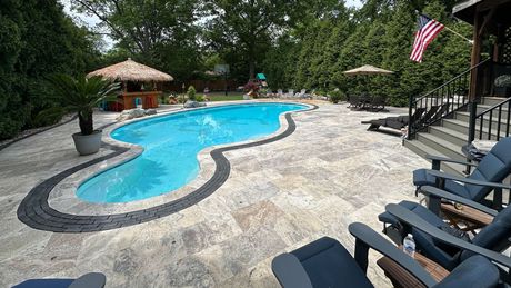
M487 181L487 182L502 182L505 177L511 173L511 137L502 138L493 148L488 152L478 168L469 176L470 179ZM488 186L467 185L467 190L474 201L481 201L492 188Z

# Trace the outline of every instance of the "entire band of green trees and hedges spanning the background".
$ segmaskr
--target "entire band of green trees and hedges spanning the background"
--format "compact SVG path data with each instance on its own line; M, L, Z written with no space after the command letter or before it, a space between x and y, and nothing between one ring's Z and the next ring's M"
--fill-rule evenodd
M52 100L50 73L83 75L131 57L169 72L178 82L214 64L230 66L238 85L264 72L271 89L309 89L387 97L404 106L410 96L438 87L470 66L470 46L444 31L422 63L409 60L418 12L470 38L450 16L455 0L71 0L73 11L100 19L79 28L58 0L0 1L0 139L40 122ZM113 48L104 54L98 38ZM362 64L392 76L347 77Z

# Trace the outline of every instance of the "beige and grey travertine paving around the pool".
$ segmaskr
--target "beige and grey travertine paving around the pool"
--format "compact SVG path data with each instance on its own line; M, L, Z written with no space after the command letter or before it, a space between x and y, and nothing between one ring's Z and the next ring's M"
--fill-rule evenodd
M53 128L0 151L0 286L37 277L107 275L107 287L278 287L271 259L321 236L350 250L348 225L381 230L377 216L389 202L414 199L411 171L429 166L399 137L365 131L361 120L405 113L350 111L319 103L293 115L295 131L263 146L226 152L230 176L214 193L177 213L99 232L59 234L17 218L28 191L78 163L70 135L78 123ZM96 113L96 126L117 113ZM389 282L370 264L379 287Z

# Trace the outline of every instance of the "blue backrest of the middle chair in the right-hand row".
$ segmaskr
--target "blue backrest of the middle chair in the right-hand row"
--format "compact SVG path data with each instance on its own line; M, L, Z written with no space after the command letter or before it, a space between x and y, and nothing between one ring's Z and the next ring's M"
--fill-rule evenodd
M493 218L493 221L481 229L472 239L472 244L501 252L509 248L511 245L511 206L505 207L499 215ZM463 251L461 260L472 256L472 252Z

